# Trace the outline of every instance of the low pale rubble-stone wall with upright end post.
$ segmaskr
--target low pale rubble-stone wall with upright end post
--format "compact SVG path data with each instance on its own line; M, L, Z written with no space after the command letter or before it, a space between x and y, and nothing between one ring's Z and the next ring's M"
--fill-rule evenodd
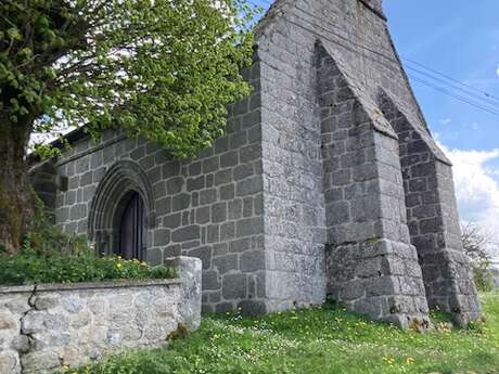
M0 287L0 374L49 373L197 328L201 260L170 262L180 279Z

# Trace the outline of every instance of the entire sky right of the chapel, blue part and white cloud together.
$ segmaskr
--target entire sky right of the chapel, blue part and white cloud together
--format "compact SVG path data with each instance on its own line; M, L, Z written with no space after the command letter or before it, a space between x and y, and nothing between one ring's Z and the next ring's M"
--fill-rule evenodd
M499 1L384 0L407 73L412 60L499 99ZM499 100L478 99L433 80L499 113ZM452 160L460 216L499 235L499 115L492 115L412 79L430 128ZM465 87L462 87L469 90ZM499 250L497 250L499 255ZM498 256L499 257L499 256Z

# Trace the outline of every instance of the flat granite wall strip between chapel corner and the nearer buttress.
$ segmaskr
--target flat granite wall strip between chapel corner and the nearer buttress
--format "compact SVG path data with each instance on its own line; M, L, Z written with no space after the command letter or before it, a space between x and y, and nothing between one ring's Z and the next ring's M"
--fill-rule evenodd
M314 43L273 21L270 34L258 36L258 55L266 296L276 311L324 300L325 207L316 72L308 54Z

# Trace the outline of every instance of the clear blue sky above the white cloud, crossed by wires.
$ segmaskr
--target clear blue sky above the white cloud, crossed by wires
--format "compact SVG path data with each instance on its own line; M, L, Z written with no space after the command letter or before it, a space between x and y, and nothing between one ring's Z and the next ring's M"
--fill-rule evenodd
M499 98L499 1L385 0L385 12L402 57ZM499 116L418 82L412 87L430 127L444 144L470 150L499 145ZM495 105L499 113L499 101Z

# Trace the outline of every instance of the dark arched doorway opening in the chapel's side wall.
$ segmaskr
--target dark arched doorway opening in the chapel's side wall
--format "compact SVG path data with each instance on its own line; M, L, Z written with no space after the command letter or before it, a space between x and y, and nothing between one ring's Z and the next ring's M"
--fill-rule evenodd
M144 204L132 191L119 204L118 233L114 253L123 258L144 260Z

